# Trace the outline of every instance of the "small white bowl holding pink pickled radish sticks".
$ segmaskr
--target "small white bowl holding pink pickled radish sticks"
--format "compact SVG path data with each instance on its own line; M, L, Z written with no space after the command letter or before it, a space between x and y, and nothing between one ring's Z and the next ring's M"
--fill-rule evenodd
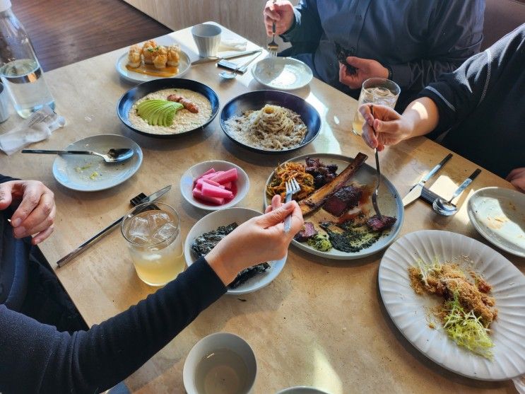
M235 195L235 197L233 197L230 202L223 205L210 205L204 204L193 197L192 191L195 180L210 168L214 168L216 171L225 171L230 170L231 168L237 168L237 195ZM195 166L190 167L184 174L182 174L182 177L180 178L180 192L182 193L182 197L184 197L184 199L186 199L186 201L194 207L206 209L206 211L217 211L218 209L233 207L244 197L246 197L248 189L249 179L247 173L245 173L242 168L234 163L230 163L229 161L203 161L202 163L198 163Z

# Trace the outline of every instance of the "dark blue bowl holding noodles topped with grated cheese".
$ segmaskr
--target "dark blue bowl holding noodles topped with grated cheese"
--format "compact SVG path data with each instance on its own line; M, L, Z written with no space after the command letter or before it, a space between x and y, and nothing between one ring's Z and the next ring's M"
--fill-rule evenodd
M228 134L225 127L226 120L235 115L242 115L242 112L246 110L260 110L266 104L281 105L281 107L293 110L301 116L301 120L306 124L307 132L299 146L283 151L268 151L266 149L258 149L242 144L242 142L237 141L237 139ZM312 105L309 105L304 99L297 97L297 95L282 91L254 91L238 95L224 106L220 112L220 127L223 129L224 134L232 141L240 146L244 146L244 148L250 151L259 153L288 153L301 149L317 137L317 134L321 131L321 117Z

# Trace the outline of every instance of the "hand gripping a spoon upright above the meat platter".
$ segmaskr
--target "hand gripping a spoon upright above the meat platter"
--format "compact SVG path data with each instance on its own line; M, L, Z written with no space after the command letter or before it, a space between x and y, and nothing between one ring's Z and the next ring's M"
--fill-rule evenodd
M362 139L370 148L382 151L385 145L395 145L411 135L411 125L393 109L386 105L363 104L358 108L365 123L362 125Z

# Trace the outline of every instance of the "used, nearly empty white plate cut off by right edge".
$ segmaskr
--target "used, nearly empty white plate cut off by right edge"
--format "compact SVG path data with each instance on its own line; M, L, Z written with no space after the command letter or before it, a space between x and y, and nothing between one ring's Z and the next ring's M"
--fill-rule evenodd
M502 187L477 190L467 206L479 233L498 248L525 257L525 194Z

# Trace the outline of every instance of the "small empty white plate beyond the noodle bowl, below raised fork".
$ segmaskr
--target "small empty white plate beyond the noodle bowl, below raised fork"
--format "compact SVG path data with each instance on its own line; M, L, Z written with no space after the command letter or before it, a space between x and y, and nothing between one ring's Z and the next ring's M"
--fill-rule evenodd
M266 57L254 64L252 76L269 88L291 91L307 86L313 74L309 66L292 57Z

